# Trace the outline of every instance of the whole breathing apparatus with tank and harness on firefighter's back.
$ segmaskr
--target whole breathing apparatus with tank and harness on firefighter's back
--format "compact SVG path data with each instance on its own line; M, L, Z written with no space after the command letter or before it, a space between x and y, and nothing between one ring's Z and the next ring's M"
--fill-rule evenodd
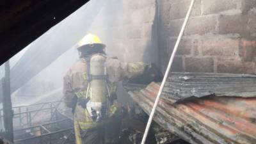
M87 65L88 86L86 95L77 100L77 104L87 109L93 121L100 122L108 115L110 108L110 92L108 86L108 74L106 72L106 56L93 54L85 58Z

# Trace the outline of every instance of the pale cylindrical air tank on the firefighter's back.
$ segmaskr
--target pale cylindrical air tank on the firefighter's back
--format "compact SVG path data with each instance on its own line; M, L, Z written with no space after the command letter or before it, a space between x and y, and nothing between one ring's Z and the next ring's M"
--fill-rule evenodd
M88 97L89 102L86 108L93 120L99 122L102 117L107 114L108 105L108 83L106 81L106 57L97 54L92 56L90 60L90 77Z

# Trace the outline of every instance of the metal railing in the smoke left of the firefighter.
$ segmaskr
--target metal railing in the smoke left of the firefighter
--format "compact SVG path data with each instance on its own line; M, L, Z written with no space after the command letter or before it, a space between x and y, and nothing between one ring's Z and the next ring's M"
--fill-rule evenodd
M60 109L61 101L13 107L15 144L72 144L73 121L70 109ZM0 109L3 131L3 109Z

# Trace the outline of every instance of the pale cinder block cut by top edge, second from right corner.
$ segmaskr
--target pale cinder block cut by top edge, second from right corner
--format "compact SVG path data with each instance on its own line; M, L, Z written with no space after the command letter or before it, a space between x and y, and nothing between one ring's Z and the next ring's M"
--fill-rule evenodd
M218 13L237 8L236 0L202 0L203 14Z

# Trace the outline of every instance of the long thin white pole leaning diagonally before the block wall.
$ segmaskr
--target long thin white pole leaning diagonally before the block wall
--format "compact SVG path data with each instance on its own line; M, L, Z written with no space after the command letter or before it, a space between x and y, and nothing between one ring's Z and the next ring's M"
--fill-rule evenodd
M186 18L185 18L184 23L183 23L183 25L182 25L182 28L181 28L181 30L180 30L179 36L178 36L178 38L177 38L176 44L175 44L175 46L174 46L174 48L173 48L172 56L171 56L171 58L170 58L170 61L169 61L169 63L168 63L168 67L167 67L166 72L165 72L165 74L164 74L163 82L161 83L159 92L157 93L157 97L156 97L156 100L155 100L155 102L154 102L154 106L153 106L152 111L151 111L151 113L150 113L150 116L149 116L149 118L148 118L147 127L146 127L146 129L145 129L144 134L143 134L143 138L142 138L141 144L145 144L145 141L147 140L148 131L149 131L149 129L150 129L150 125L151 125L151 123L152 123L154 114L155 114L155 112L156 112L157 104L158 104L158 102L159 102L160 96L161 96L161 94L162 94L162 92L163 92L164 84L165 84L165 82L166 82L166 79L167 79L168 74L169 74L169 72L170 72L170 69L171 69L171 67L172 67L172 63L173 63L173 60L174 60L174 56L175 56L175 54L176 54L176 52L177 52L177 49L178 49L178 47L179 47L180 40L181 40L182 35L183 35L183 33L184 33L184 30L185 30L185 28L186 28L186 26L187 26L187 24L188 24L188 19L189 19L189 16L190 16L190 14L191 14L191 11L192 11L192 9L193 9L194 3L195 3L195 0L192 0L192 1L191 1L191 4L190 4L190 6L189 6L189 10L188 10L188 13L187 13L187 15L186 15Z

